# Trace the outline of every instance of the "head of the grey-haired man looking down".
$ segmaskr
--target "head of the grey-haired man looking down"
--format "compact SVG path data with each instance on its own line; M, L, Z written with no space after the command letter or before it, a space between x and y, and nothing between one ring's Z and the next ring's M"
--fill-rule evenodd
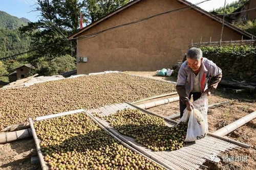
M190 48L187 52L187 65L193 70L197 71L201 66L203 60L203 52L200 48Z

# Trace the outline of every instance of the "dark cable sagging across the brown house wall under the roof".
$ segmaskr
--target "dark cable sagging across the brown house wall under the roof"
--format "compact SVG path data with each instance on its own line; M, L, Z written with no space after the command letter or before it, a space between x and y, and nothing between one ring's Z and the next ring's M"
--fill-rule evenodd
M116 28L120 28L120 27L124 27L124 26L127 26L127 25L132 25L134 23L140 23L140 22L143 22L145 20L148 20L148 19L151 19L151 18L154 18L156 16L160 16L160 15L163 15L163 14L167 14L167 13L171 13L171 12L175 12L175 11L182 11L182 10L187 10L187 9L191 9L191 8L194 8L195 6L199 5L199 4L202 4L204 2L207 2L207 1L212 1L212 0L205 0L205 1L202 1L200 3L197 3L197 4L191 4L189 6L185 6L185 7L181 7L181 8L177 8L177 9L174 9L174 10L170 10L170 11L166 11L166 12L162 12L162 13L159 13L159 14L155 14L155 15L152 15L152 16L149 16L149 17L146 17L146 18L142 18L142 19L139 19L139 20L136 20L136 21L132 21L132 22L127 22L127 23L124 23L122 25L119 25L119 26L115 26L115 27L111 27L111 28L108 28L108 29L105 29L105 30L101 30L99 32L95 32L95 33L92 33L92 34L88 34L88 35L81 35L81 36L78 36L78 37L75 37L75 38L72 38L72 39L77 39L79 37L83 37L83 38L80 38L80 39L89 39L89 38L93 38L105 31L109 31L109 30L113 30L113 29L116 29ZM71 40L72 40L71 39Z

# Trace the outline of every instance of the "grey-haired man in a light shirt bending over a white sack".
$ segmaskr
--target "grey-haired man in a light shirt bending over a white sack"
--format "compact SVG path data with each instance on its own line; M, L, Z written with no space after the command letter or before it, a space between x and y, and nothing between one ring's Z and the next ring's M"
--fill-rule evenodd
M200 48L190 48L186 61L180 67L176 86L180 96L180 117L186 108L189 111L194 109L190 101L191 95L194 101L203 94L210 95L210 92L217 88L221 78L222 70L214 62L203 58Z

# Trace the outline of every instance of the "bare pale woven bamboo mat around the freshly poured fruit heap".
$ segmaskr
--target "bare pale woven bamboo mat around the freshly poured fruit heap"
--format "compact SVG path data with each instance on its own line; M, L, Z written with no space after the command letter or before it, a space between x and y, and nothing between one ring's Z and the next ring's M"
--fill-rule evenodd
M114 105L100 107L97 109L90 110L88 112L90 114L98 113L101 116L108 116L112 113L115 113L117 110L123 110L125 108L135 109L135 107L127 103L121 103L121 104L114 104ZM143 145L137 143L134 140L134 138L121 135L116 129L111 127L109 123L107 123L102 118L98 118L96 116L94 117L106 129L109 129L111 132L116 134L119 138L123 139L128 144L132 145L132 147L141 151L142 153L144 153L148 157L151 157L154 160L159 160L164 164L167 164L170 167L170 169L182 169L182 170L200 169L200 167L206 160L210 160L211 155L218 155L222 151L227 151L233 148L239 148L239 146L236 144L230 143L222 139L218 139L216 137L206 135L204 138L197 140L193 144L192 143L186 144L183 148L177 151L153 152L150 149L143 147ZM165 122L166 122L166 125L169 127L176 125L176 123L174 122L169 122L166 120Z

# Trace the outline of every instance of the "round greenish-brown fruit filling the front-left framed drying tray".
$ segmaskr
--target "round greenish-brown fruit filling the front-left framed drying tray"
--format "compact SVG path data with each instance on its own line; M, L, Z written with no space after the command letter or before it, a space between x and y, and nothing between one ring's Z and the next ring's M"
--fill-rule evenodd
M50 169L163 169L125 148L86 113L34 123Z

